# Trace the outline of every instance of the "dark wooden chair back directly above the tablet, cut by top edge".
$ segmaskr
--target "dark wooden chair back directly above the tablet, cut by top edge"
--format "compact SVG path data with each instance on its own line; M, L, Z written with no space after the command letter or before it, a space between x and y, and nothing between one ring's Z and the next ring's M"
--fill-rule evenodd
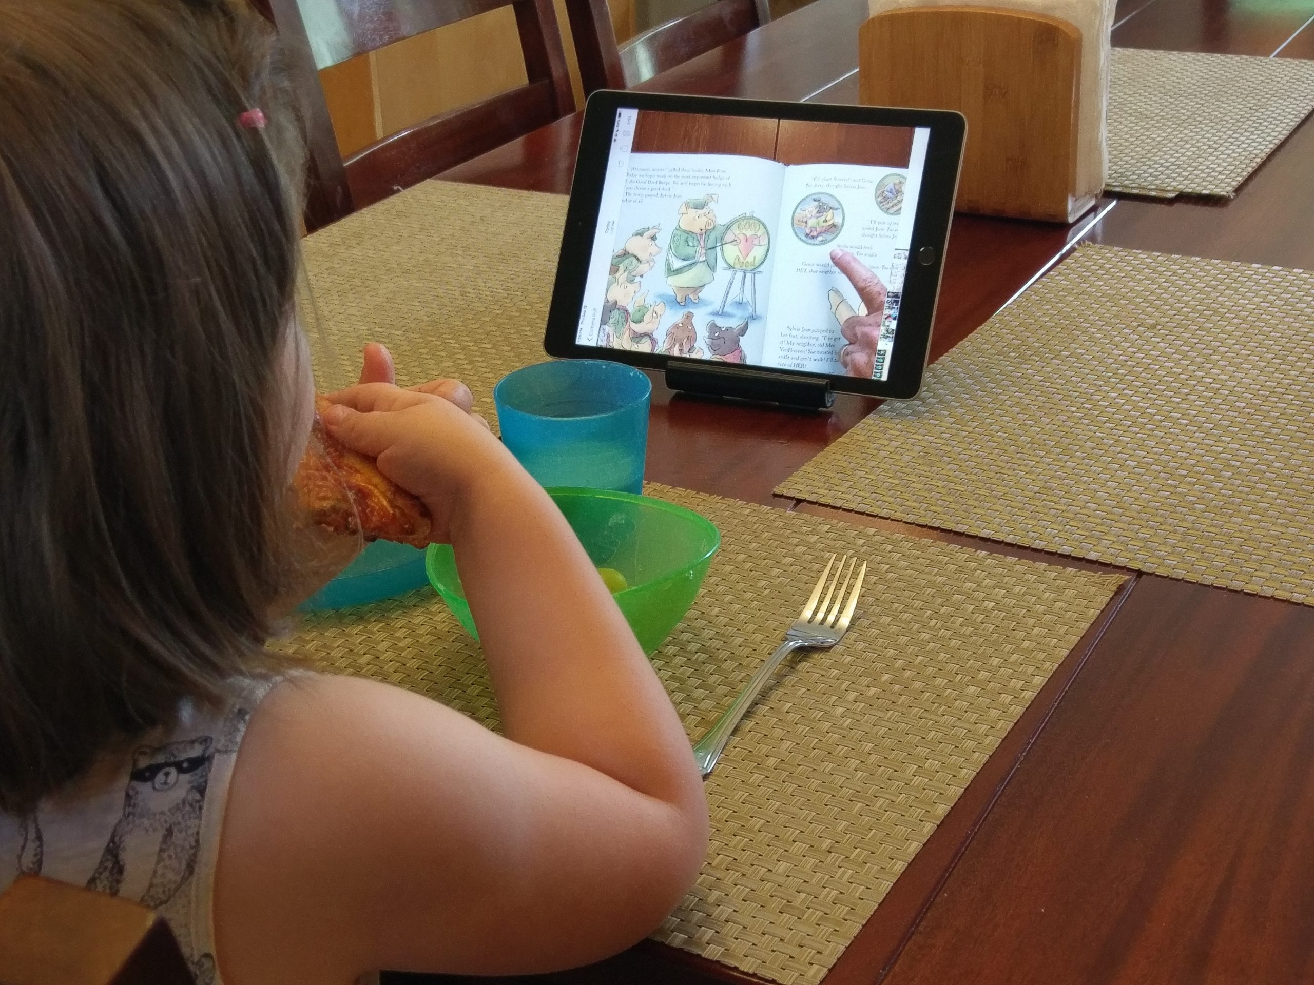
M712 0L620 47L607 0L565 0L565 5L585 96L597 89L628 89L771 18L767 0Z

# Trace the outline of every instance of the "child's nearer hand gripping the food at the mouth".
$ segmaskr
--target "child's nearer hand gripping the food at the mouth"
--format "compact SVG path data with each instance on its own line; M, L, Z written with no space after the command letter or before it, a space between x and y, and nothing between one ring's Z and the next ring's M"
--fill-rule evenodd
M478 482L520 470L487 422L470 414L473 397L457 380L410 390L361 383L328 399L328 433L376 458L380 471L424 502L435 541L449 541L452 520Z

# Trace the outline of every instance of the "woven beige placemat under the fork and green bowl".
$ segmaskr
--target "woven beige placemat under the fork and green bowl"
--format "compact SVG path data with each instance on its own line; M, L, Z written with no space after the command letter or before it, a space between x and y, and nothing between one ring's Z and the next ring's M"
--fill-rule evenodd
M708 780L707 865L656 935L787 985L820 981L1122 579L648 491L723 535L653 658L691 738L781 642L828 553L870 563L848 637L791 665ZM478 649L427 590L307 617L284 645L495 726Z

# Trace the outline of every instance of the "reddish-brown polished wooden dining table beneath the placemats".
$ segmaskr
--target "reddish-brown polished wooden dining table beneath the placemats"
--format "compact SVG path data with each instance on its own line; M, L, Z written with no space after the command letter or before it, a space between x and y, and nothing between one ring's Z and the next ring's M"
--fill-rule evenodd
M855 102L866 16L867 0L816 0L643 88ZM1121 0L1113 43L1314 58L1314 0ZM579 125L564 118L442 177L569 192ZM1105 198L1070 227L955 217L932 359L1083 240L1314 269L1314 120L1233 201ZM646 474L1091 566L773 495L875 407L708 403L654 380ZM1314 608L1127 574L828 985L1314 981ZM553 978L759 981L653 942Z

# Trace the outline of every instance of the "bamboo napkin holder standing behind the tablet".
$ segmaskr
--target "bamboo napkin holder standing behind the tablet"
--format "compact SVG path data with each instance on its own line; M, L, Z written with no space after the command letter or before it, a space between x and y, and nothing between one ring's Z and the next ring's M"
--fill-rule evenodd
M1081 32L989 7L886 11L858 32L859 100L967 118L959 211L1074 222Z

